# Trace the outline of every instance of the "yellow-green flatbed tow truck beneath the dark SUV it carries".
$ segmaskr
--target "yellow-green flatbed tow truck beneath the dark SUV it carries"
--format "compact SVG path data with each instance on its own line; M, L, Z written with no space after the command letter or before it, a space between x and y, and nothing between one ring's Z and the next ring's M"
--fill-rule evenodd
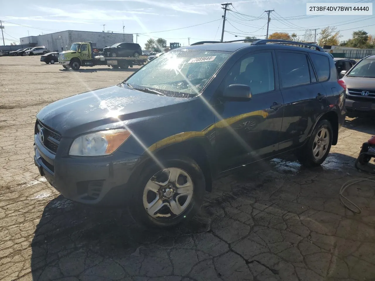
M81 66L107 65L108 67L127 69L129 66L143 65L147 57L104 57L99 55L97 49L93 48L92 42L73 43L69 51L61 52L58 55L58 63L65 69L78 70Z

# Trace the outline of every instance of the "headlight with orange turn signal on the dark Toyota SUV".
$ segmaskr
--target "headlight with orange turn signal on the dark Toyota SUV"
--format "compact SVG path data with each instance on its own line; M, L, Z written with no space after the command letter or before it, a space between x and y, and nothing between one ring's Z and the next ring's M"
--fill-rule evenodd
M69 155L98 156L115 151L130 136L125 129L107 130L78 137L72 143Z

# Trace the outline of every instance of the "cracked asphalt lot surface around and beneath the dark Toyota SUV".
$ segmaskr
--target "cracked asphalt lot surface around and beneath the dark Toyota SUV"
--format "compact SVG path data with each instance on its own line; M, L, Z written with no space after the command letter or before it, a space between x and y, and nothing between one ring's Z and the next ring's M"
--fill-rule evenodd
M372 182L354 168L374 121L349 119L325 163L273 159L213 183L201 212L167 230L123 210L64 199L33 163L35 114L63 97L116 84L132 70L64 71L39 57L0 58L0 279L62 281L375 280Z

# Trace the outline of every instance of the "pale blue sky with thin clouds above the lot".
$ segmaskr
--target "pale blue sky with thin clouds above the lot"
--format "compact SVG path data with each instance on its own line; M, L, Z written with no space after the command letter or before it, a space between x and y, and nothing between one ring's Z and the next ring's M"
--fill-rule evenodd
M306 16L306 3L374 3L375 0L235 0L229 3L225 21L224 40L244 36L265 38L267 13L270 13L269 34L275 31L305 34L308 28L336 26L341 39L347 40L353 31L363 29L375 35L375 15ZM222 3L217 0L85 0L29 1L17 5L0 0L5 44L20 37L36 36L61 30L114 31L133 33L134 42L142 49L150 39L162 37L181 46L202 40L220 40L222 32ZM373 4L375 10L375 5ZM22 7L20 9L19 7ZM105 25L104 25L105 24ZM104 26L103 26L104 25ZM195 25L195 26L193 26ZM186 27L186 28L184 28ZM162 32L160 32L162 31ZM139 34L136 37L136 33ZM237 35L237 37L236 37ZM19 42L18 42L19 43ZM0 46L3 45L0 39Z

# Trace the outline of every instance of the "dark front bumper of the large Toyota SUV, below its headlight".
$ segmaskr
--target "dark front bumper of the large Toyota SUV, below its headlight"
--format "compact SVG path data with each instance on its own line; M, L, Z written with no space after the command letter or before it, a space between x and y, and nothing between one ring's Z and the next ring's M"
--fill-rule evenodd
M60 145L58 149L63 149ZM130 175L143 158L120 151L102 157L62 157L46 149L37 135L34 135L34 152L40 175L64 197L103 206L125 204Z

